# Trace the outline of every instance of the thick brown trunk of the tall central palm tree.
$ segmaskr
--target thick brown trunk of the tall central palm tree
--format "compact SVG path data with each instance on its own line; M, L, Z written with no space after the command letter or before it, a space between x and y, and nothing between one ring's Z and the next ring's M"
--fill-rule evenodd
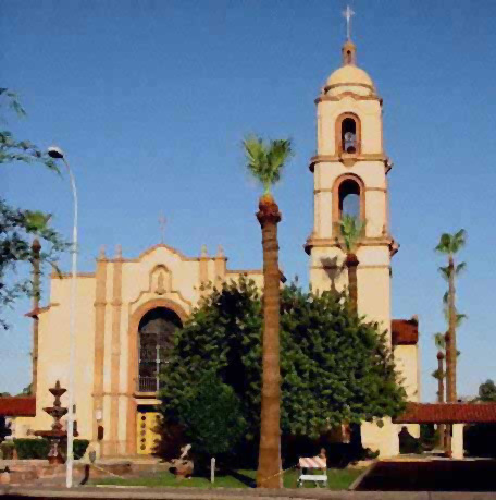
M281 374L280 374L280 268L277 223L281 214L272 196L260 198L257 219L263 246L263 337L260 451L257 487L282 488Z

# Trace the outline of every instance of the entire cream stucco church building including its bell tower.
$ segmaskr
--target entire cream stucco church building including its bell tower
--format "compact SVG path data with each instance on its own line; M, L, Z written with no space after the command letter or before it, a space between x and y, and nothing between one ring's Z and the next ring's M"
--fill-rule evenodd
M314 291L347 285L339 220L349 214L365 221L356 252L358 310L387 330L408 398L418 402L418 321L392 319L392 258L398 244L389 227L393 163L384 149L383 100L357 65L349 39L342 52L340 68L315 99L317 155L309 164L313 229L305 244L310 283ZM112 257L101 252L94 272L77 275L75 420L79 438L89 439L99 455L151 453L158 373L174 330L206 293L202 284L247 275L262 286L261 270L230 270L226 263L222 248L215 256L203 248L200 256L187 257L159 244L136 258L124 257L119 248ZM48 429L52 422L42 408L53 402L49 388L57 380L67 387L70 282L70 275L52 276L49 304L33 313L38 329L36 416L15 418L17 437ZM396 455L399 430L390 420L381 427L364 423L362 443L382 456Z

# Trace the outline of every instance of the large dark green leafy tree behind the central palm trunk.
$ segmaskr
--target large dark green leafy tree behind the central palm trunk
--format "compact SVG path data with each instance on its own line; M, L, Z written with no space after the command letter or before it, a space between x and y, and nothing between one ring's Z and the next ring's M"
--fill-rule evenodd
M181 401L194 397L201 374L233 388L247 423L246 440L260 429L262 304L253 281L213 289L174 339L161 380L161 411L175 424ZM385 332L350 314L344 294L281 292L281 427L284 435L317 438L340 424L394 417L405 391Z

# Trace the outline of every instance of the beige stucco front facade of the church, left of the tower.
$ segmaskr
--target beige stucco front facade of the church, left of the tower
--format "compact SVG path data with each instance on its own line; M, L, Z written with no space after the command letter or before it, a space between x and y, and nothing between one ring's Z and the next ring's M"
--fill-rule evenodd
M74 400L79 436L91 441L102 456L137 452L136 415L141 406L158 403L153 392L144 392L138 378L138 325L158 307L186 319L198 304L202 285L237 280L241 275L259 286L259 270L230 270L220 248L213 257L203 248L188 258L168 245L156 245L136 259L124 258L117 248L113 258L100 255L96 271L77 276ZM70 322L69 275L52 276L50 304L39 313L39 368L36 417L17 418L16 436L51 426L42 411L53 399L57 380L67 387ZM65 394L62 403L66 404ZM99 436L100 427L100 436ZM103 434L103 436L101 436Z

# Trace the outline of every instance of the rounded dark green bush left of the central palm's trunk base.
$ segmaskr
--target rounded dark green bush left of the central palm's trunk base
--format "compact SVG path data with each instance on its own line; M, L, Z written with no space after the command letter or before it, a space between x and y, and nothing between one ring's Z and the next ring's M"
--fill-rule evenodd
M241 403L214 373L201 374L190 395L178 404L178 420L197 456L228 455L245 435Z

